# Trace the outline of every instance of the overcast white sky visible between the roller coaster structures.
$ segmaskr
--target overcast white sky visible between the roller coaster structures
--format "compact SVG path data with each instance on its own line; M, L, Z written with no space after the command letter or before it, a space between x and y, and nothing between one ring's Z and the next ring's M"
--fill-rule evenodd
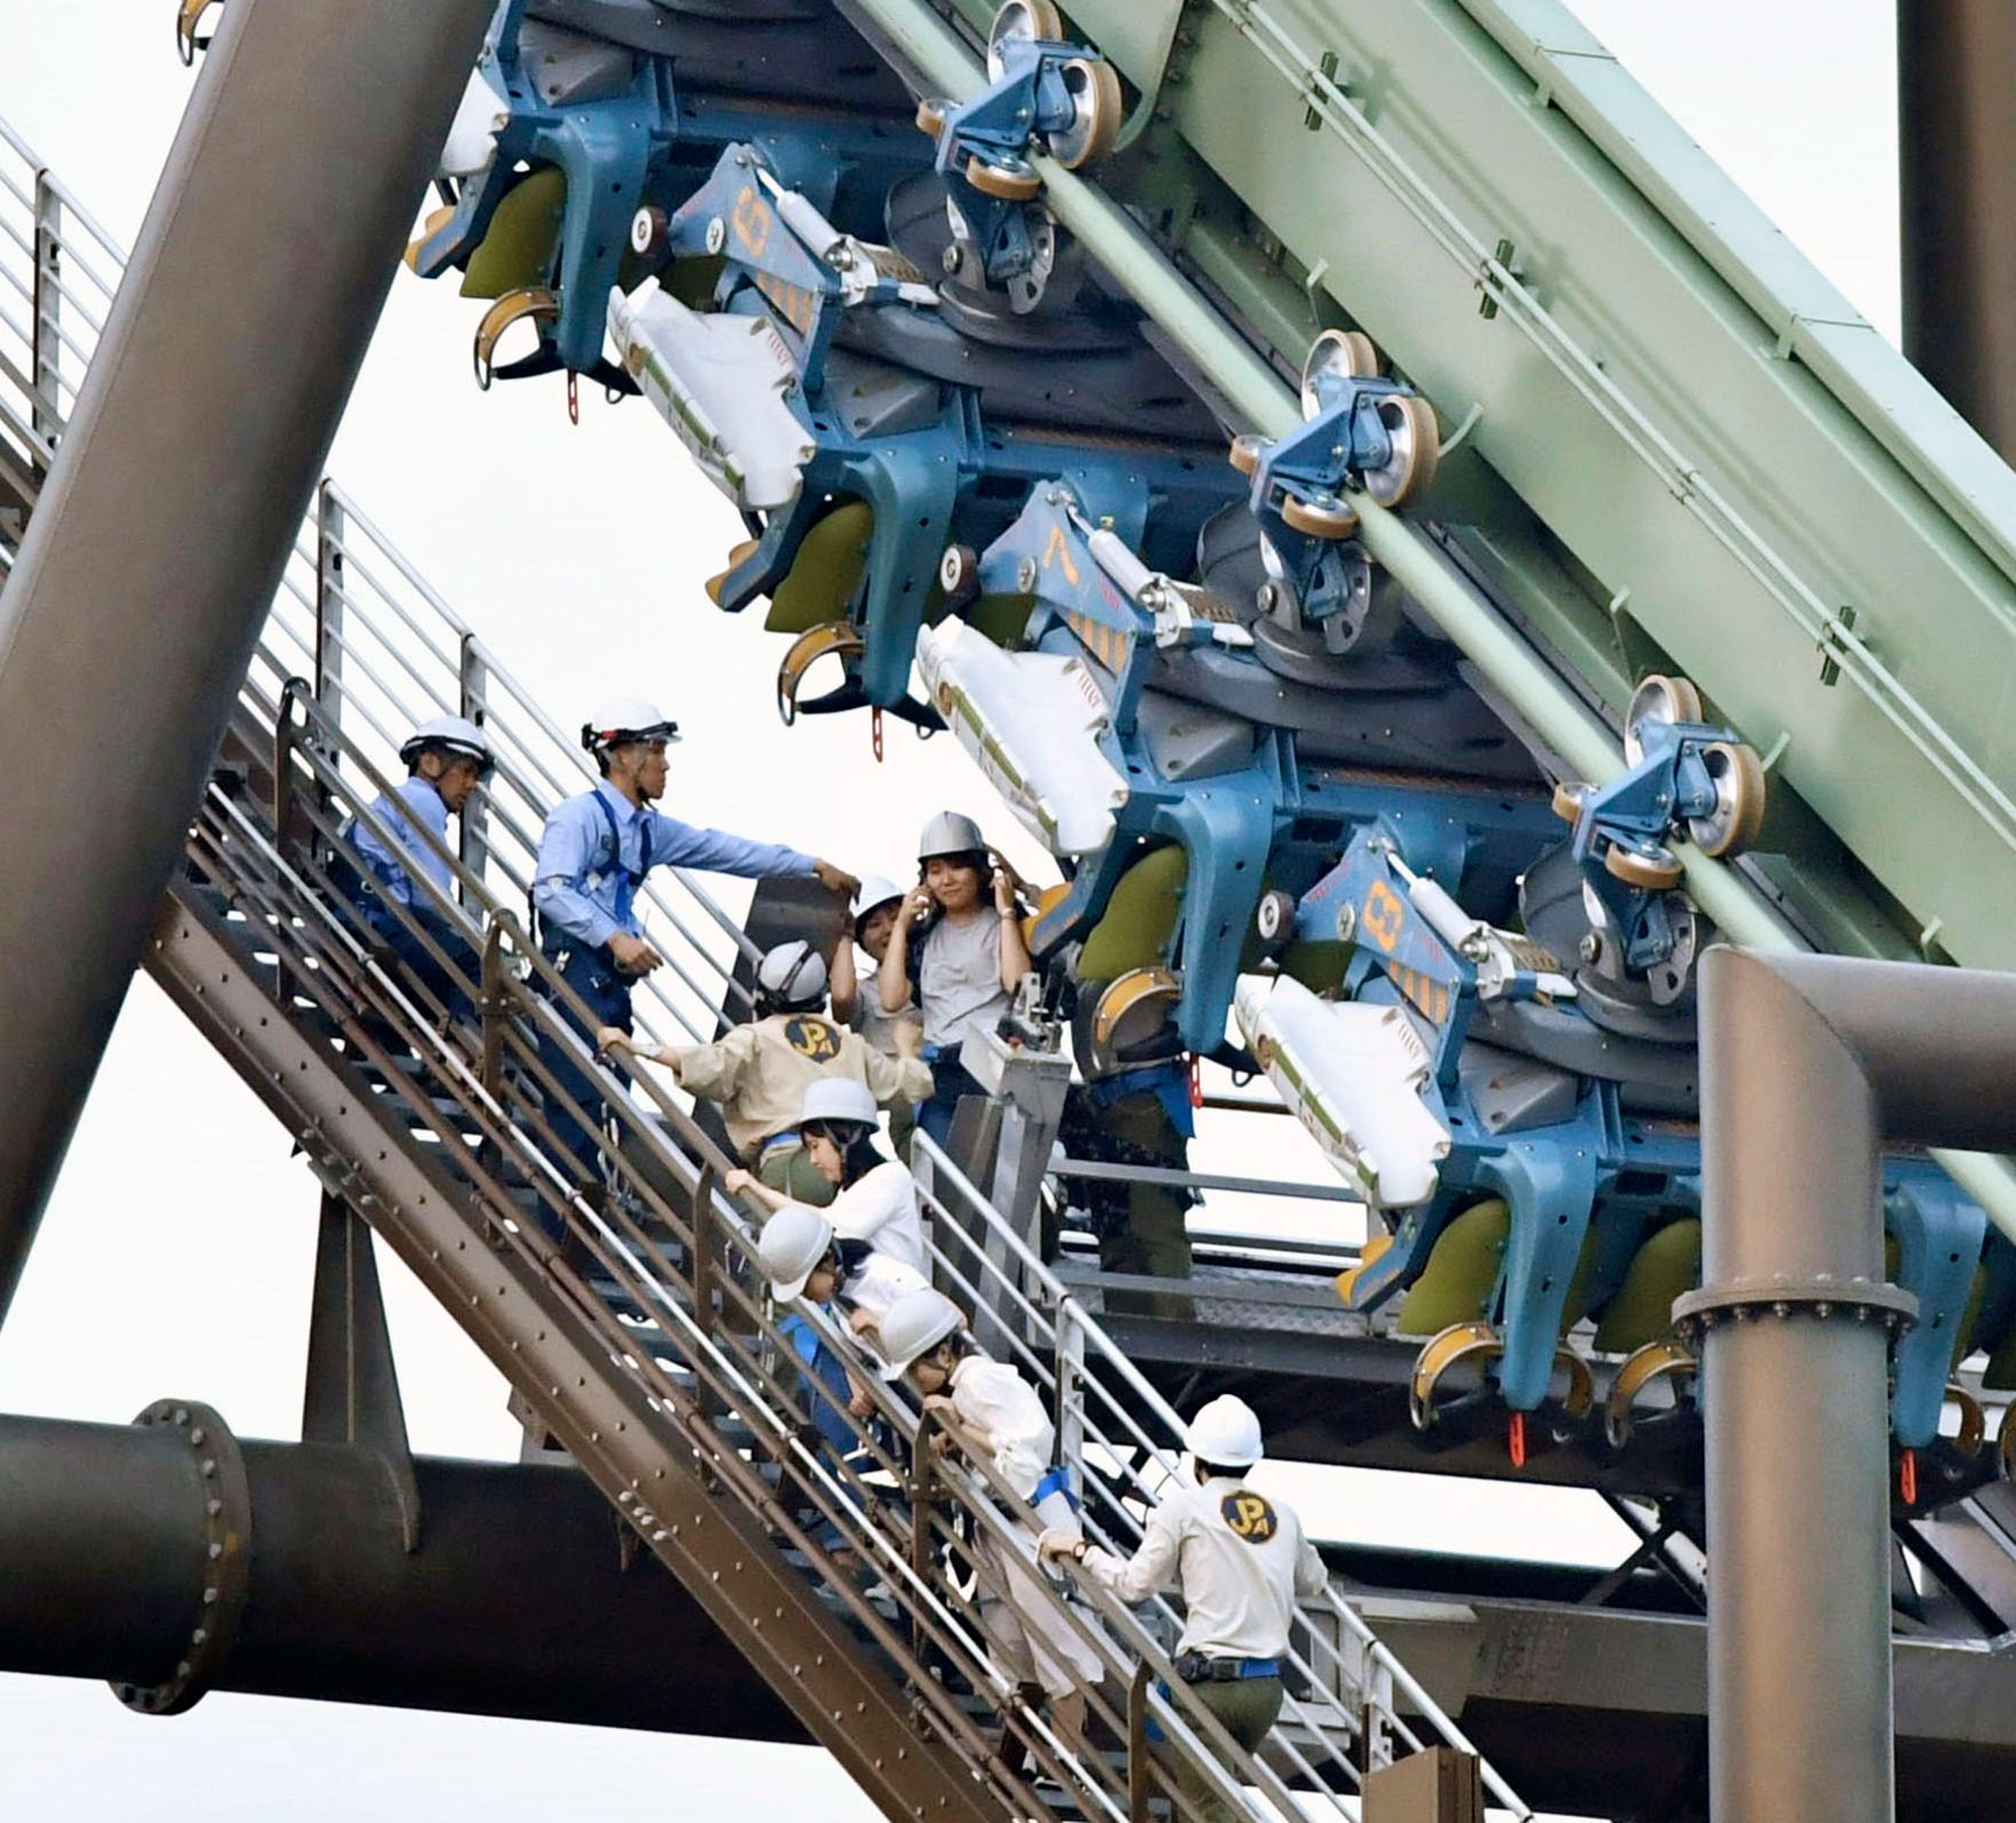
M0 115L127 242L187 95L171 12L171 0L0 0ZM1895 337L1891 6L1581 0L1577 12ZM927 764L895 730L877 768L861 718L786 740L770 712L774 641L700 595L740 536L720 498L641 405L613 411L585 389L569 430L554 381L476 393L472 327L450 284L399 278L331 470L562 724L611 686L655 690L687 734L673 811L859 873L899 873L941 801L1006 833L950 742ZM0 1331L0 1410L125 1422L185 1395L242 1436L296 1436L312 1216L286 1137L141 978ZM496 1375L391 1262L387 1293L415 1448L514 1454ZM1433 1545L1474 1537L1482 1516L1496 1537L1568 1557L1601 1539L1530 1492L1496 1494L1480 1514L1431 1482L1363 1478L1351 1531ZM155 1722L97 1686L0 1678L8 1817L435 1823L482 1805L502 1823L560 1823L639 1799L665 1823L762 1803L871 1815L812 1750L234 1696Z

